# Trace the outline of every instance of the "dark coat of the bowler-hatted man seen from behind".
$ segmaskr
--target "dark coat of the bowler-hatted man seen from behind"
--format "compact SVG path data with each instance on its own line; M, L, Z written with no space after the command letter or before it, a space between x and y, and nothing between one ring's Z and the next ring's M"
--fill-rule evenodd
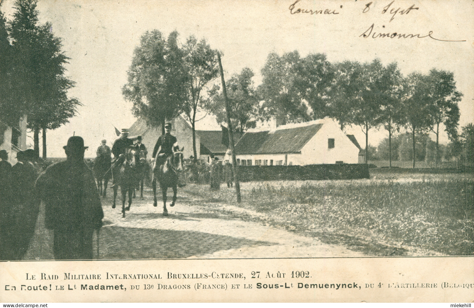
M45 202L45 225L53 230L96 229L104 213L94 175L84 162L70 160L49 166L36 181Z

